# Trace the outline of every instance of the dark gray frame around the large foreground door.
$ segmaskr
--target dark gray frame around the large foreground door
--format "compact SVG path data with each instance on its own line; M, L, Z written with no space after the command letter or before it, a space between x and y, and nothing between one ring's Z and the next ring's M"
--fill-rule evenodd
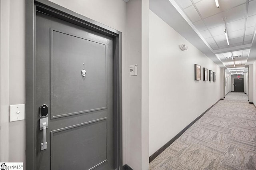
M36 170L37 10L114 39L114 168L122 170L122 32L48 0L26 0L26 169Z

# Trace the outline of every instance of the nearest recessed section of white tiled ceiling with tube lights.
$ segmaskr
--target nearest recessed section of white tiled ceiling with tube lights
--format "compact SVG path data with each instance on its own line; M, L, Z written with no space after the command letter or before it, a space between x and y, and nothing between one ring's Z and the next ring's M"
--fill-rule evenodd
M256 0L175 0L213 50L252 43ZM225 18L226 20L222 20ZM230 45L224 34L225 22Z

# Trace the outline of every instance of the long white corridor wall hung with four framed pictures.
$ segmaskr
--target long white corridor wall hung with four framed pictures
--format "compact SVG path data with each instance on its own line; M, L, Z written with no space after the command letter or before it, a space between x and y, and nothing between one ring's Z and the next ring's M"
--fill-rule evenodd
M152 155L221 98L220 67L150 11L149 154ZM185 43L186 51L179 45ZM217 81L194 81L194 64ZM202 71L201 71L202 72ZM222 92L223 93L223 92Z

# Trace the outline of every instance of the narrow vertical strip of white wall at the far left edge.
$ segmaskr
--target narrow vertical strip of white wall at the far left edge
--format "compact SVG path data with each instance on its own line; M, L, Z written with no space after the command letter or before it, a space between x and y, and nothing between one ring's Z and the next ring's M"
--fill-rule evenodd
M9 161L10 2L0 1L0 162Z

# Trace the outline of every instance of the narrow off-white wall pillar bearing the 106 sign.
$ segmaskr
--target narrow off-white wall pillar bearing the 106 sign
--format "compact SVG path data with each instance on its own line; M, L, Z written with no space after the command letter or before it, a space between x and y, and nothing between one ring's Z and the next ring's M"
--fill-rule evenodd
M148 10L148 0L127 3L127 62L138 64L138 76L127 82L126 162L134 170L148 170Z

